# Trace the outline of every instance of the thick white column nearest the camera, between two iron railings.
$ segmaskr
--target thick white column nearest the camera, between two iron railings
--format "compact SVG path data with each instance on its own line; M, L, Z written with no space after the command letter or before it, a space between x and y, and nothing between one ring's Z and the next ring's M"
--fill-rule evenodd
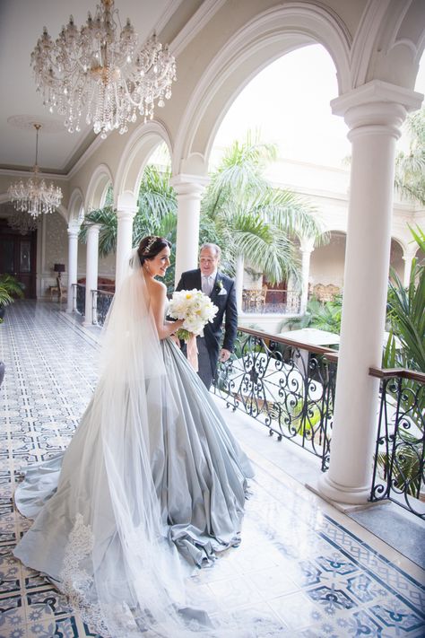
M370 494L379 381L369 367L382 363L395 141L418 98L374 81L333 102L351 129L351 186L331 458L318 490L341 503L366 503Z

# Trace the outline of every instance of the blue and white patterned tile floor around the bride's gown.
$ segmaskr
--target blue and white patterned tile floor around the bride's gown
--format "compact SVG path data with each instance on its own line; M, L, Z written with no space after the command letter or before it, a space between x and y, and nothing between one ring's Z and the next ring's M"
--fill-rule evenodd
M55 303L17 302L0 327L0 638L96 635L11 550L30 526L13 507L20 468L70 440L96 383L97 350ZM256 479L242 544L199 572L197 586L248 613L258 638L425 635L423 572L245 448Z

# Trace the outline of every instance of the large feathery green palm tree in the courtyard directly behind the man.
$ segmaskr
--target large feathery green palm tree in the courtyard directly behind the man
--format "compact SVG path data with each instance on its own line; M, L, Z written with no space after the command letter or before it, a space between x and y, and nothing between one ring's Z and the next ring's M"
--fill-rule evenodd
M291 191L273 188L263 176L276 154L275 144L262 143L250 132L244 142L230 144L201 205L207 225L201 240L212 240L214 233L223 249L223 268L234 273L243 257L272 284L298 277L295 237L325 240L311 206Z

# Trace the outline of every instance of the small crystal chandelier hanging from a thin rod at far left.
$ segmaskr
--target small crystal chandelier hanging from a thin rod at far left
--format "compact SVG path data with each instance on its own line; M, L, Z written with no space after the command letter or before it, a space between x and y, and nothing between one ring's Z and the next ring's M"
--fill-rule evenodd
M22 179L11 184L7 189L7 195L18 211L29 213L31 217L38 217L42 213L53 213L62 199L62 191L52 182L46 184L44 179L39 178L39 166L37 164L39 155L39 129L40 124L34 124L36 129L36 161L34 164L34 176L23 182Z

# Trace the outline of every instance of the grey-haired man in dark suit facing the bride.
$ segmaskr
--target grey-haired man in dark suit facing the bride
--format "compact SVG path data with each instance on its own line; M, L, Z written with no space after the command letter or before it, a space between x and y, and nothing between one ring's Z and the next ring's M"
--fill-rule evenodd
M224 339L220 361L229 359L238 329L238 307L236 304L235 282L218 269L221 249L216 244L204 244L199 252L199 268L187 270L178 282L176 290L202 290L211 297L219 309L212 323L207 323L204 336L196 337L198 347L198 374L210 389L217 369L224 317Z

